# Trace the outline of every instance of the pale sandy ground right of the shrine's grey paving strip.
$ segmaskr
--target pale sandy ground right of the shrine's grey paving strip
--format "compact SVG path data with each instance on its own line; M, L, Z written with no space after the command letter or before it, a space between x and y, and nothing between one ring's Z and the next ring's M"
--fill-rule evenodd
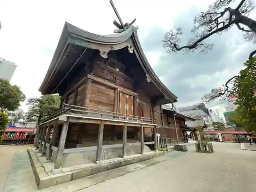
M241 150L237 143L214 143L215 153L188 153L80 192L172 191L254 192L256 152Z

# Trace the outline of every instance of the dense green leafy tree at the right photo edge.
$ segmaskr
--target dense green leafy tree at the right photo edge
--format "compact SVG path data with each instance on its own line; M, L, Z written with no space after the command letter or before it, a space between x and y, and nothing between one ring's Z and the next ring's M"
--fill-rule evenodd
M220 89L206 94L206 100L214 100L219 97ZM230 117L231 122L238 123L248 132L256 131L256 58L253 57L244 63L244 69L232 79L231 86L228 86L225 97L231 95L237 99L234 104L238 109L234 116Z

